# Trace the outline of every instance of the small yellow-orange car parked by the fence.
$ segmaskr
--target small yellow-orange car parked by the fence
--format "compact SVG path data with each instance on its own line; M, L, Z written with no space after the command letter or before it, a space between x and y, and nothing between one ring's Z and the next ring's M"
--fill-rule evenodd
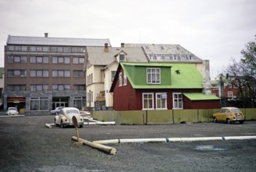
M243 124L245 120L243 113L236 107L223 107L218 113L213 114L214 122L225 121L227 124L239 122Z

